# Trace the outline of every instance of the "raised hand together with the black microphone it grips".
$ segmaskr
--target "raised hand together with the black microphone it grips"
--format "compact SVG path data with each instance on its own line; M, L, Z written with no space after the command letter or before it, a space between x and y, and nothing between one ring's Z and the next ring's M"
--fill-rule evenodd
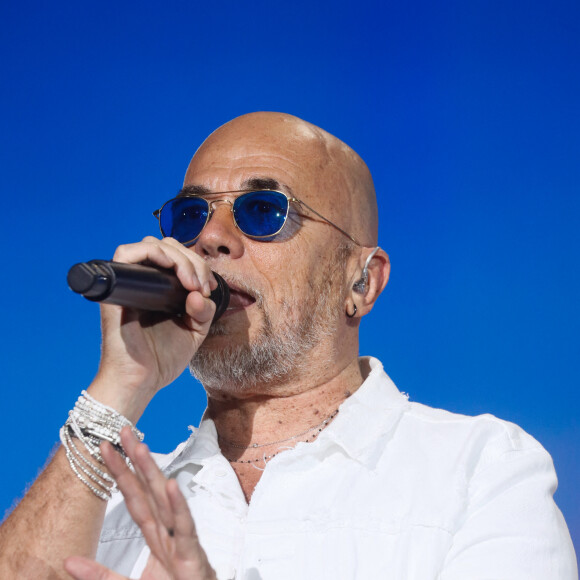
M171 238L147 236L119 246L113 261L75 264L68 282L88 300L126 307L101 308L101 360L87 392L134 424L187 368L228 306L227 284Z

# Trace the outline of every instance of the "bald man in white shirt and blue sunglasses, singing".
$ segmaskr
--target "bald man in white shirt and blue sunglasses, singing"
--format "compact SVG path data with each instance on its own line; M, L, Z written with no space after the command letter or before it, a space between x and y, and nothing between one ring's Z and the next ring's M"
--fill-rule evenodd
M173 237L114 259L173 268L187 313L102 307L99 371L3 526L2 578L577 577L537 442L409 403L378 361L359 360L389 260L349 147L288 115L234 119L159 219ZM211 270L232 289L213 325ZM162 475L132 425L190 361L208 407L157 459ZM95 451L119 433L136 474L111 445L102 462ZM112 494L105 517L109 474L125 502Z

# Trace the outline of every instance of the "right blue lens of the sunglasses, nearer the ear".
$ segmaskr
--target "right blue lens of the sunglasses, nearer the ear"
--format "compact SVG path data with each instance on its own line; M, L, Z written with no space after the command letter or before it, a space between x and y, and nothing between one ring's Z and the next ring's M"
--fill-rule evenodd
M236 198L233 211L238 227L247 236L273 236L286 221L288 199L278 191L252 191Z

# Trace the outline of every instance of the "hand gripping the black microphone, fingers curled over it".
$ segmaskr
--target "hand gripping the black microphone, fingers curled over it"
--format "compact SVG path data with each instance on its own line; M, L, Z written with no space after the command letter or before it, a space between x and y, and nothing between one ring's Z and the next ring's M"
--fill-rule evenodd
M172 238L147 237L119 246L113 259L173 269L190 291L182 317L101 306L102 356L89 393L136 423L155 393L183 372L205 339L215 312L209 295L216 282L203 258Z

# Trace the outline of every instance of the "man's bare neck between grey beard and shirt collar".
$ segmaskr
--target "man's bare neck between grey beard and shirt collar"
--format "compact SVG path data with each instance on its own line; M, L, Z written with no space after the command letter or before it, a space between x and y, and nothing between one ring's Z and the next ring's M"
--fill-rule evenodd
M358 359L292 384L255 387L251 393L209 393L207 415L224 440L238 445L293 437L332 415L362 384ZM267 394L264 394L267 393Z

